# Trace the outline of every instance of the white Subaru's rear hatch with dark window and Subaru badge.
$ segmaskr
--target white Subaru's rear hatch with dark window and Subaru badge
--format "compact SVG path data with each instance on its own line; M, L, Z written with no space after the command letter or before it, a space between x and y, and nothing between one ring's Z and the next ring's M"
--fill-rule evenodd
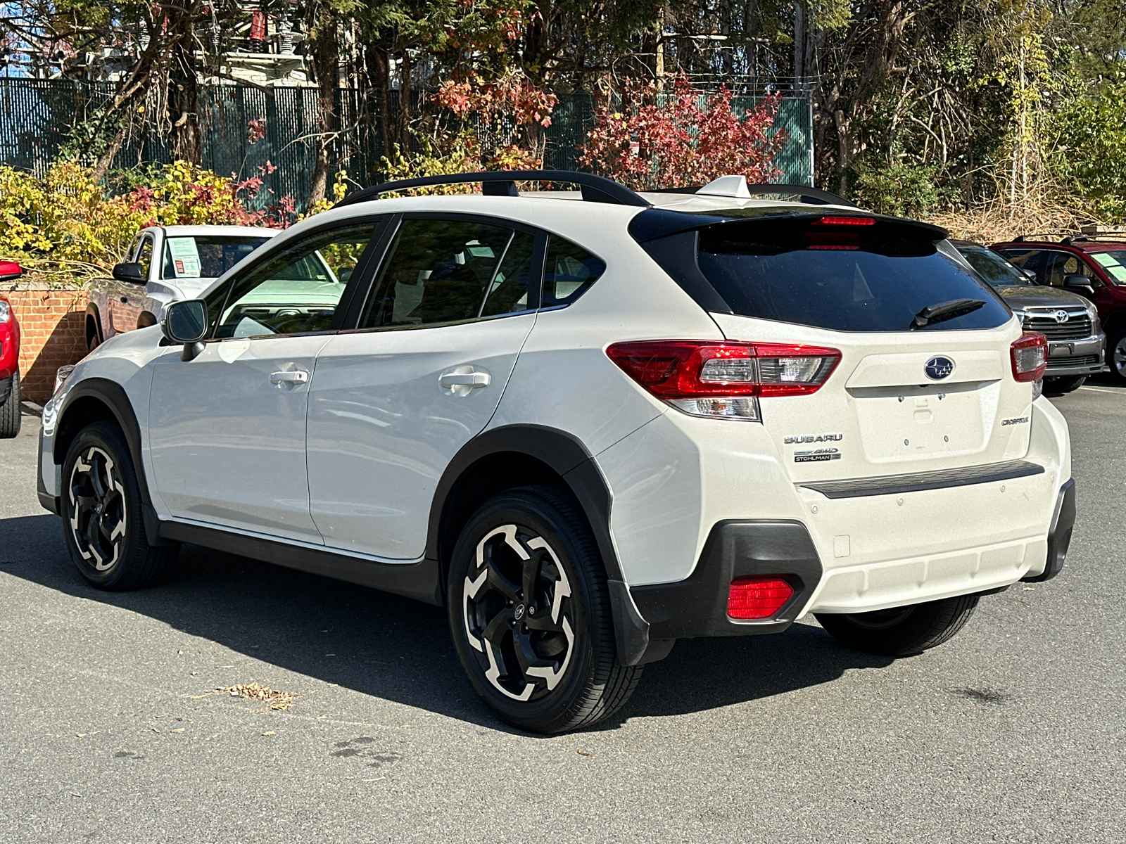
M687 270L673 261L670 272L696 285L729 340L840 352L813 392L758 399L794 483L978 467L1027 452L1033 385L1016 379L1011 353L1020 325L945 236L852 212L672 235L681 250L695 240L696 261ZM650 253L661 261L669 245Z

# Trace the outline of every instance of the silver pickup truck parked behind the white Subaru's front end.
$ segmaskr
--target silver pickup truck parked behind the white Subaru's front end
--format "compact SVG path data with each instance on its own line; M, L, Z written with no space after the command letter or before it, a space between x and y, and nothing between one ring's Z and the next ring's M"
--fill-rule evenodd
M155 325L169 303L197 296L275 234L275 228L244 226L142 228L113 278L90 286L87 345L93 349L114 334Z

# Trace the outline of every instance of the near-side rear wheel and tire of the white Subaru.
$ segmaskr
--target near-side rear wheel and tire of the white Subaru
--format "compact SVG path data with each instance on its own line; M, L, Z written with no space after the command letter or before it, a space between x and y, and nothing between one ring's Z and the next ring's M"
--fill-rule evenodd
M557 487L511 490L486 501L454 548L447 598L473 690L513 727L589 727L622 709L641 680L641 666L617 658L606 572L590 527Z

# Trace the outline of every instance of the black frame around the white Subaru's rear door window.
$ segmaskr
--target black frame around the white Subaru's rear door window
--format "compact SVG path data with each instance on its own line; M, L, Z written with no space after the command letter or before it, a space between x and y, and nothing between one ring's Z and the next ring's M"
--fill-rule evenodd
M485 296L481 300L481 304L477 306L479 315L471 317L468 320L453 320L450 322L432 322L432 323L426 323L423 325L382 325L375 329L358 327L359 321L363 318L364 308L366 307L370 296L375 293L375 282L379 278L379 275L383 272L384 264L391 257L390 255L391 244L394 242L395 235L399 234L399 230L402 226L403 222L408 219L449 219L449 221L459 221L466 223L480 223L482 225L511 228L516 232L524 232L526 234L533 235L536 239L536 244L531 252L533 278L530 279L530 284L528 285L528 307L525 308L524 311L516 311L510 314L493 314L491 316L481 316L481 312L484 308L485 303L489 300L489 297ZM471 322L482 322L484 320L502 320L507 316L520 316L522 314L535 313L536 311L540 309L539 305L543 302L544 264L547 260L547 237L548 237L547 232L543 231L542 228L529 226L525 223L520 223L519 221L507 219L504 217L492 217L484 214L465 214L459 212L449 212L449 213L409 212L406 214L396 214L384 230L383 236L379 239L378 249L375 250L376 253L379 255L379 258L378 261L374 263L373 271L367 279L367 289L364 291L363 295L360 295L359 291L357 290L355 298L349 302L348 306L349 312L346 316L345 327L340 330L340 333L359 334L359 333L368 333L372 331L419 331L422 329L440 329L440 327L446 327L448 325L462 325ZM508 246L511 245L512 240L513 239L510 236L508 240L508 244L504 248L506 251L508 250ZM502 254L500 259L497 261L497 266L493 268L493 278L497 277L497 271L500 269L500 264L503 262L503 260L504 257ZM537 267L539 268L538 282L535 279L536 276L535 268ZM565 305L563 307L565 307Z

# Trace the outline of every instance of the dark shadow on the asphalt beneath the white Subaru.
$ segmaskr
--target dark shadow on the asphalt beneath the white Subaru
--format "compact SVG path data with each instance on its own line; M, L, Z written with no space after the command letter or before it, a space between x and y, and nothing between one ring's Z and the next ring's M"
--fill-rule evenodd
M100 592L74 571L59 518L46 513L0 520L0 559L5 574L141 613L287 671L508 729L473 694L440 607L197 546L181 549L161 585ZM646 667L631 702L600 727L768 698L890 662L804 625L774 636L683 640Z

